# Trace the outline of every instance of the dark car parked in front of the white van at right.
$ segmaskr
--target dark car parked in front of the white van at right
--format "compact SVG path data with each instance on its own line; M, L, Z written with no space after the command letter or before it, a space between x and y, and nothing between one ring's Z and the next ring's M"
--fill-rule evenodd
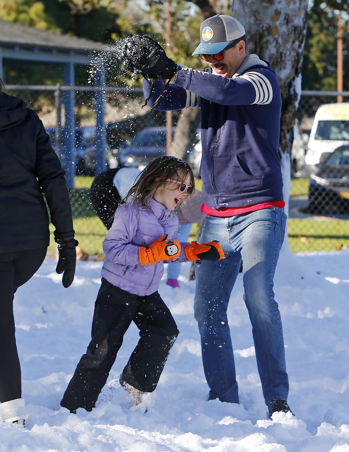
M307 212L349 214L349 145L321 155L310 175Z

